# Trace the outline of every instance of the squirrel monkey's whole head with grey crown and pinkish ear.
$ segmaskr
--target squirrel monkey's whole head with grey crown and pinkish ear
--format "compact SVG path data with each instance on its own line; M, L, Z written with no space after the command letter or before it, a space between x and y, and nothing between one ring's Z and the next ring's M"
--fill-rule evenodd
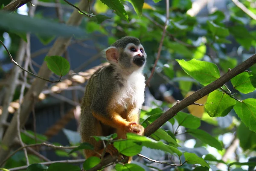
M134 37L123 37L104 50L107 60L122 69L131 71L143 69L147 54Z

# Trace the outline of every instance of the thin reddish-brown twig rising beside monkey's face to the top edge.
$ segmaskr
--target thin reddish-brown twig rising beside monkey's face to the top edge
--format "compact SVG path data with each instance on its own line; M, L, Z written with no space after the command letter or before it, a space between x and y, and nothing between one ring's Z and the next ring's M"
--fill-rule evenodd
M148 77L148 80L147 80L147 86L149 85L149 82L150 82L150 80L151 80L151 78L152 78L152 76L153 76L153 74L154 74L154 70L155 70L155 68L156 68L156 66L157 66L157 61L159 60L159 58L160 58L160 55L161 55L161 50L162 50L162 46L163 46L163 39L164 39L164 37L165 37L165 34L166 34L166 29L167 29L167 25L168 25L168 20L169 20L169 0L166 0L166 22L165 22L165 26L164 26L164 29L163 29L163 34L162 34L162 38L161 38L161 41L160 41L160 44L159 44L159 48L158 48L158 52L157 52L157 59L156 59L156 61L155 61L155 63L154 63L154 67L153 67L153 69L152 69L152 71L151 71L151 74L150 74L150 76Z

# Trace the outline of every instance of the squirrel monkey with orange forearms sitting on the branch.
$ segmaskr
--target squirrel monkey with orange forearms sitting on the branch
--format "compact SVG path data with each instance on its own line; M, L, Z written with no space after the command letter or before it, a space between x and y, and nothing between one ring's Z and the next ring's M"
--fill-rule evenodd
M123 37L103 50L103 54L110 65L91 76L81 103L81 141L94 145L97 152L84 150L86 158L99 157L104 151L103 142L92 136L117 133L117 139L125 139L126 133L144 134L139 120L145 91L142 71L147 55L140 40ZM108 145L105 152L118 155L113 145ZM128 160L131 162L131 157Z

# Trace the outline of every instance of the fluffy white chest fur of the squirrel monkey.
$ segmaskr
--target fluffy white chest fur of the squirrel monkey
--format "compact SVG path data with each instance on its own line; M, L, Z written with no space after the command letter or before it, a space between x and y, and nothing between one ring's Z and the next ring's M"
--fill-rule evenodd
M114 103L124 108L127 105L141 108L144 102L145 77L141 72L131 75L120 75L116 84Z

